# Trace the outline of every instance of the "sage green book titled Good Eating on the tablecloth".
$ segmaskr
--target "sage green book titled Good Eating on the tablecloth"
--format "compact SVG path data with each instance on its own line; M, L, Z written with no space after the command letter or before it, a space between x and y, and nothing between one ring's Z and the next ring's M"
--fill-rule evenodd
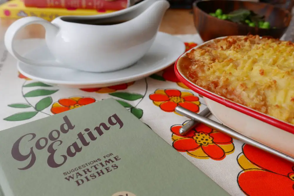
M228 195L115 99L0 131L2 196Z

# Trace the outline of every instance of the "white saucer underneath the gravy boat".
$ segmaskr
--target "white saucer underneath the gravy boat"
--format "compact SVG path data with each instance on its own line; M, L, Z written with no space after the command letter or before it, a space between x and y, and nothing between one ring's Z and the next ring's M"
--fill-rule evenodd
M23 62L17 63L17 69L24 76L49 85L69 88L106 87L148 77L171 65L184 52L183 41L175 36L158 32L148 53L136 64L122 70L93 73L59 67L34 66ZM39 46L24 56L28 59L42 60L54 58L46 45Z

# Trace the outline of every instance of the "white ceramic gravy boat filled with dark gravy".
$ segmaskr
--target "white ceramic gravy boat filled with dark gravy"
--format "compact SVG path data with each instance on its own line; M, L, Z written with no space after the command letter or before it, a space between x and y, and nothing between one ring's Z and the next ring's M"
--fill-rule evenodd
M88 72L119 70L133 65L148 52L169 6L167 0L144 0L103 15L60 16L52 22L25 17L9 26L4 42L11 55L29 65ZM16 33L33 23L44 26L46 44L56 60L27 59L14 49Z

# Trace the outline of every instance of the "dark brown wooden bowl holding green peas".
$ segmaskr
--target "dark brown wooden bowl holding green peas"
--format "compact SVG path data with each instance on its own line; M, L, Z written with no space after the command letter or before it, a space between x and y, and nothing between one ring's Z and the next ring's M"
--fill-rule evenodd
M276 28L263 29L250 27L245 24L221 20L209 15L209 13L215 13L217 9L222 9L225 14L236 9L252 10L259 15L265 16L265 21L268 21L270 26ZM286 9L275 7L271 4L250 1L198 0L193 3L193 12L196 30L203 41L223 36L248 34L280 39L291 21L291 13Z

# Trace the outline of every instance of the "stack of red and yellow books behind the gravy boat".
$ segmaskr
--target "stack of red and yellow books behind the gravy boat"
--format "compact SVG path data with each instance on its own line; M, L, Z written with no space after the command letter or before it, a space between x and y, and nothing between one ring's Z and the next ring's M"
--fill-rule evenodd
M0 5L1 18L37 16L51 21L65 15L97 15L131 6L130 0L11 0Z

